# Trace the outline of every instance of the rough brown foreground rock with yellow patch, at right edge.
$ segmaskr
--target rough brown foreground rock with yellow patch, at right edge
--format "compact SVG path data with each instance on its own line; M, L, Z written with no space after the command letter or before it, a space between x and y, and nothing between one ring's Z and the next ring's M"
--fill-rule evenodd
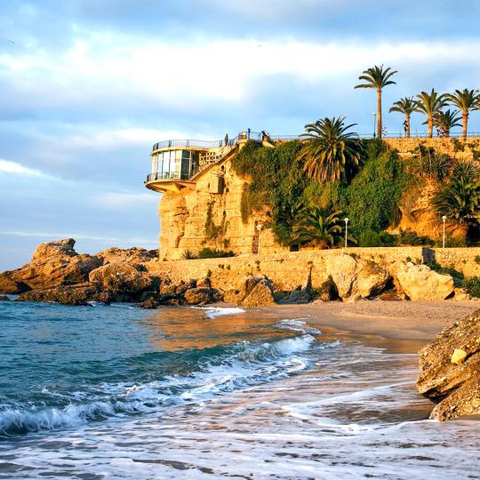
M420 350L417 388L436 403L432 419L480 414L480 309Z

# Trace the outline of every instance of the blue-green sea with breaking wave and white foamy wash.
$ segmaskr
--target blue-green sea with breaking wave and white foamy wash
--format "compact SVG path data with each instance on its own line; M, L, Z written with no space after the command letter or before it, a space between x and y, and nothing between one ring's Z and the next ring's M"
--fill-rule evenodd
M3 301L0 478L478 478L417 371L274 308Z

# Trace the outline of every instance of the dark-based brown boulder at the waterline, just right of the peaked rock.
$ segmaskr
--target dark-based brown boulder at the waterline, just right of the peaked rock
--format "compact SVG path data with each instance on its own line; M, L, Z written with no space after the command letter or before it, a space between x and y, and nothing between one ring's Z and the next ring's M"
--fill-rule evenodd
M158 278L139 271L127 262L112 262L92 270L90 282L100 284L104 292L113 294L117 301L139 300L143 292L156 292Z

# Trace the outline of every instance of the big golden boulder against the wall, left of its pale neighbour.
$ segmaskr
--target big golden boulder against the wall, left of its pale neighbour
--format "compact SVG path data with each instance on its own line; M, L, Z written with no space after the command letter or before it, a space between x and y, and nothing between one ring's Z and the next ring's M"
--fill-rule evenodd
M326 256L325 266L341 300L370 299L383 292L391 280L379 264L347 253Z

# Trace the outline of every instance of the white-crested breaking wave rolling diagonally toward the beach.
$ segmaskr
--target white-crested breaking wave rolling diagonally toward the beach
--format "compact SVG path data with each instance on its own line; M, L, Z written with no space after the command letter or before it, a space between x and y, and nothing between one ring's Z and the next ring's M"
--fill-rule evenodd
M73 428L91 420L116 415L152 412L172 404L203 404L212 397L276 379L308 367L300 355L315 341L309 334L254 344L239 342L221 355L207 356L195 372L166 375L143 384L113 383L99 387L98 395L71 396L64 407L25 408L3 405L0 435L16 436L31 431ZM326 345L326 344L325 344ZM44 393L48 390L44 389ZM52 392L52 396L55 396Z

